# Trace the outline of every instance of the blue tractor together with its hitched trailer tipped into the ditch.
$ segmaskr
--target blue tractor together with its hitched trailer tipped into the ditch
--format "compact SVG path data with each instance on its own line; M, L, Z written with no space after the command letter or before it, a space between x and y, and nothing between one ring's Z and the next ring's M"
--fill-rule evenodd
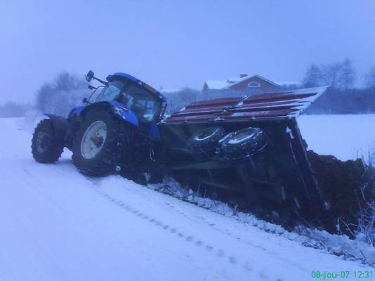
M326 87L197 101L163 119L165 97L143 81L125 73L103 81L89 71L92 79L102 86L89 86L83 106L38 124L37 162L58 161L66 147L88 176L117 170L146 183L145 174L151 181L169 175L239 195L251 208L288 206L305 218L328 208L296 122Z

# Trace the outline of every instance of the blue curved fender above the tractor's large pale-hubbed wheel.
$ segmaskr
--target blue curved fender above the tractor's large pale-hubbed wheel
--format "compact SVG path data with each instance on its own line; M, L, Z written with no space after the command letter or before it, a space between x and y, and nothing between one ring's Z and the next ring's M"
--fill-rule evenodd
M136 127L139 126L138 118L134 112L128 110L124 105L122 105L122 103L115 100L101 101L84 107L76 107L74 110L72 110L72 112L70 112L69 116L77 115L84 119L89 112L98 110L109 110L123 121Z

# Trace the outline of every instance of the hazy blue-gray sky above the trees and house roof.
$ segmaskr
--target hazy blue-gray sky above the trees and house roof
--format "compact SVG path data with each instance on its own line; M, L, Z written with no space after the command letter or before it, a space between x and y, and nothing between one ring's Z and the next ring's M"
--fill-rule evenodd
M61 70L128 72L155 88L258 73L300 81L310 63L375 65L375 1L0 0L0 104L33 101Z

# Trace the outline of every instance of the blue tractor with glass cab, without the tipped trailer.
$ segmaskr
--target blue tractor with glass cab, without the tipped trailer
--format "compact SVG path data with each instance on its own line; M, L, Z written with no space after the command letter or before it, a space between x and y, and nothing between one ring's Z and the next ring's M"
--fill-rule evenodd
M152 166L160 146L158 122L165 112L165 97L153 87L118 72L94 90L84 105L75 107L68 118L46 114L32 138L32 155L37 162L58 161L66 147L72 162L83 174L104 176L115 168L129 177L143 174ZM160 166L160 165L154 165Z

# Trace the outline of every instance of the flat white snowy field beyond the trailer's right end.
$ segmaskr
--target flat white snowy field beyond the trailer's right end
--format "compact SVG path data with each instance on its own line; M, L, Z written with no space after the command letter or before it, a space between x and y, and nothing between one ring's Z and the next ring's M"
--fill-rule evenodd
M375 152L375 115L302 115L300 131L309 149L341 160Z

